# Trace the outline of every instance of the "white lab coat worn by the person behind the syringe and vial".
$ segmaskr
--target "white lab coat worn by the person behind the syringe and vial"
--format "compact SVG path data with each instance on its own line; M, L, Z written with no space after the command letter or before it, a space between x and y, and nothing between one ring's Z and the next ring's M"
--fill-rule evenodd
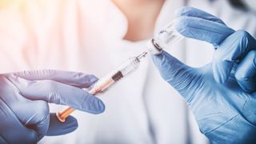
M221 0L214 3L167 0L154 31L170 22L174 10L185 5L217 14L229 26L250 27L248 30L255 32L255 20L243 25L246 18L254 16L243 15L234 23L231 19L234 10ZM2 73L58 69L101 77L126 58L146 50L146 40L129 42L122 39L127 20L112 2L106 0L27 1L0 10L0 19L4 19L0 22ZM190 66L202 66L210 62L214 52L210 47L205 42L185 39L167 51ZM142 61L138 71L99 98L106 104L103 114L76 111L73 115L78 118L78 130L45 137L39 143L207 143L186 102L162 80L150 57ZM52 111L62 108L51 105Z

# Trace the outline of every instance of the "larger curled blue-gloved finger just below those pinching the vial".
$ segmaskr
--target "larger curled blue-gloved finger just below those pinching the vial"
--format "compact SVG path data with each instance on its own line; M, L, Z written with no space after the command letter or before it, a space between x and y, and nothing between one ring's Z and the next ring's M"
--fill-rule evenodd
M238 30L226 38L218 50L215 51L212 62L216 82L226 82L234 64L239 63L250 50L254 50L255 46L255 39L243 30Z

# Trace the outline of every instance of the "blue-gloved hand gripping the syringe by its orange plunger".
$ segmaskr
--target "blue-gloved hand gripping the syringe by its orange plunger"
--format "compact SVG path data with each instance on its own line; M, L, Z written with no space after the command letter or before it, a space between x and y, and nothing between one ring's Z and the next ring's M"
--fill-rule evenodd
M0 143L36 143L46 134L67 134L77 128L74 117L59 122L49 113L47 102L102 113L102 101L80 89L97 80L90 74L57 70L0 74Z

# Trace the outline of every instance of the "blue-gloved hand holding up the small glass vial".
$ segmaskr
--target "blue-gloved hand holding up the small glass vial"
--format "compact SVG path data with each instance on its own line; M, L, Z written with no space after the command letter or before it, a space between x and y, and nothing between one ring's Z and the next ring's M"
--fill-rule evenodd
M200 68L186 66L165 51L153 55L162 78L189 104L199 128L213 143L256 142L256 41L211 14L178 10L174 25L188 38L214 44L214 58Z

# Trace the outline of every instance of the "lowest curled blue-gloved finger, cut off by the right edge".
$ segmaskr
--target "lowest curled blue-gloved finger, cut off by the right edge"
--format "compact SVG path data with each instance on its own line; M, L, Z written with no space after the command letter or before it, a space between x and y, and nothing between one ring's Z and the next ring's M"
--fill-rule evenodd
M234 77L246 92L256 91L256 50L251 50L238 64Z

